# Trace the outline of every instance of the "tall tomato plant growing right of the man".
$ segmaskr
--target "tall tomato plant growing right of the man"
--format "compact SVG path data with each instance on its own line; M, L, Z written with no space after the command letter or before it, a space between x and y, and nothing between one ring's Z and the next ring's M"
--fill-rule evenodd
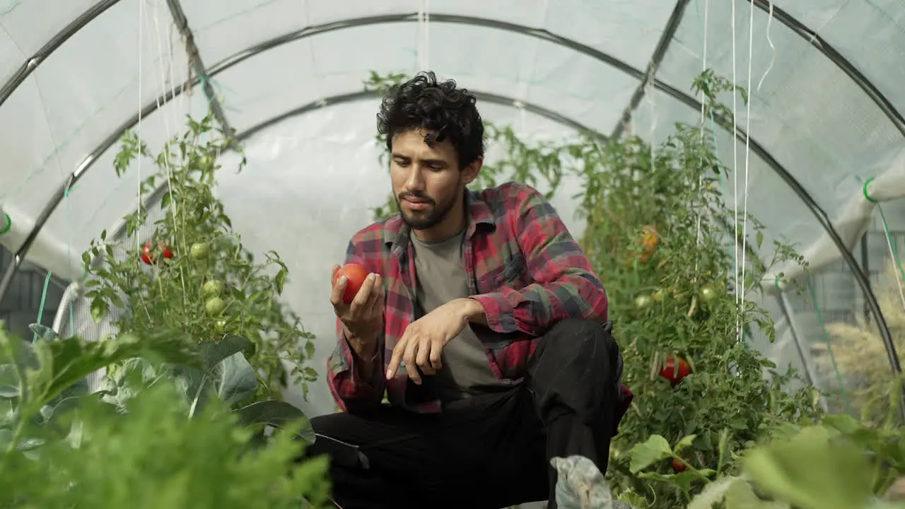
M744 93L712 72L701 74L695 90L715 119L731 113L715 100L718 94ZM744 279L738 278L744 305L737 304L735 295L722 296L718 288L717 282L736 280L726 245L727 221L733 228L736 215L719 192L720 179L729 170L717 156L710 129L710 123L678 124L658 146L627 136L607 142L586 139L567 150L581 161L586 188L581 244L604 277L614 335L624 356L624 383L635 394L636 404L620 426L614 450L627 451L653 435L669 442L693 435L689 454L701 468L715 468L721 461L717 444L724 433L729 460L722 461L731 467L733 454L771 429L818 413L812 389L787 390L793 375L776 371L747 341L739 341L752 330L772 337L770 317L749 296L772 264L801 262L801 256L780 245L771 264L753 260ZM760 249L762 226L750 216L738 216L755 225L748 226L746 241ZM638 313L635 297L652 288L657 305ZM765 370L771 373L766 378ZM688 377L692 371L696 376ZM672 474L667 465L657 471ZM611 462L610 475L617 492L644 494L656 506L687 502L679 486L639 480L624 455Z

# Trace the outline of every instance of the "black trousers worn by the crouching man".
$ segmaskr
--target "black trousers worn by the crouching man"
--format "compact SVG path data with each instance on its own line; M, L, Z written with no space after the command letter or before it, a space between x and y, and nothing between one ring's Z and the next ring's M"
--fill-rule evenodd
M556 456L605 472L622 359L608 323L559 322L541 338L525 382L452 402L440 414L381 406L311 419L306 456L329 455L343 509L500 509L549 500Z

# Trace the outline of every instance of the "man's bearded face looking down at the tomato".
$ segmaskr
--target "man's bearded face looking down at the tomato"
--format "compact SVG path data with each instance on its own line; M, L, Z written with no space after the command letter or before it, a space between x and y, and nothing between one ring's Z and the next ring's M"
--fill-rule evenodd
M459 168L459 156L448 139L429 146L424 134L421 130L397 134L390 162L396 204L405 223L416 231L442 228L451 213L462 213L463 187L481 167L476 162Z

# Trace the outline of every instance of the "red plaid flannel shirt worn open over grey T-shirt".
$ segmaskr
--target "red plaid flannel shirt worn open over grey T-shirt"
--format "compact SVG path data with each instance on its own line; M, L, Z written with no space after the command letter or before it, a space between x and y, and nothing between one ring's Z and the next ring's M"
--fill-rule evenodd
M488 343L488 360L500 379L519 383L539 337L564 318L606 321L606 293L566 225L533 187L508 183L466 195L471 221L465 232L465 270L469 290L484 308L492 331L505 340ZM414 321L414 251L409 228L399 214L359 231L346 253L347 264L361 264L384 280L384 332L372 379L362 379L359 360L337 321L338 344L328 360L328 383L343 411L381 403L415 412L440 411L439 401L405 399L408 376L401 366L393 379L385 373L393 348ZM632 395L624 386L618 418Z

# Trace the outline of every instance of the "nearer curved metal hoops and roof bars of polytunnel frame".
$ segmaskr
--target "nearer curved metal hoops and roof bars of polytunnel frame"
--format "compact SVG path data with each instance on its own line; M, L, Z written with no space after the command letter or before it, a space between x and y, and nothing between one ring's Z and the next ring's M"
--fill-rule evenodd
M804 38L808 43L814 45L814 47L824 54L831 62L834 62L845 74L847 74L850 78L856 82L859 87L862 88L865 93L874 101L875 104L886 114L888 118L892 121L892 123L900 130L900 132L905 136L905 120L902 120L900 113L895 110L895 108L891 105L891 102L888 101L883 94L868 80L861 72L857 70L856 67L853 66L851 62L848 62L847 59L843 57L843 55L832 47L829 43L826 43L818 34L816 34L813 30L809 29L795 20L795 18L789 14L786 14L781 9L777 8L775 5L772 5L770 0L747 0L753 6L757 6L762 11L765 11L776 18L781 24L786 25L787 28L792 30L795 34ZM43 62L46 57L59 48L62 43L65 43L73 34L78 32L82 27L89 24L91 20L96 18L98 15L106 12L111 6L116 5L119 0L104 0L99 4L93 5L89 10L85 13L81 14L78 18L76 18L71 24L68 24L66 27L62 29L62 31L56 35L54 35L50 42L46 43L32 58L28 59L24 62L23 66L14 73L13 77L4 84L2 88L0 88L0 105L5 102L6 99L13 93L13 91L22 83L24 80ZM681 20L681 15L684 13L685 8L689 4L688 0L678 0L675 8L673 9L672 15L670 16L669 22L667 26L663 30L662 38L657 44L656 50L653 54L651 62L649 62L647 67L647 72L641 72L638 69L635 69L633 66L629 65L626 62L622 62L619 59L614 58L613 56L595 50L585 44L578 43L572 39L568 39L567 37L563 37L557 34L552 34L548 30L532 28L525 25L520 24L512 24L509 22L502 22L498 20L491 20L485 18L479 18L475 16L464 16L464 15L455 15L455 14L432 14L431 18L434 22L439 23L460 23L460 24L471 24L475 26L485 26L489 28L495 28L505 31L510 31L518 34L524 34L533 36L539 39L547 40L551 43L556 43L557 45L567 47L576 51L577 53L584 53L587 56L594 58L599 62L604 62L609 64L610 66L630 75L634 78L638 79L641 83L638 89L633 94L632 101L630 101L629 105L624 110L624 119L631 119L633 114L633 110L637 107L637 104L640 103L643 98L643 94L645 92L646 85L653 84L653 87L667 93L673 99L681 101L683 104L695 109L700 110L701 104L699 101L691 97L689 94L679 91L673 88L671 85L668 85L664 82L661 82L655 78L655 73L657 67L659 66L660 60L662 56L667 53L669 49L669 45L672 42L674 32L679 25L679 21ZM299 40L304 37L308 37L314 34L324 34L327 32L332 32L339 29L346 28L354 28L357 26L366 26L372 24L388 24L388 23L411 23L420 20L419 14L386 14L386 15L376 15L376 16L367 16L362 18L349 18L347 20L341 20L338 22L332 22L328 24L320 24L313 25L309 27L305 27L298 31L292 32L290 34L285 34L279 37L275 37L270 41L265 43L256 44L247 50L236 53L232 57L225 59L223 62L220 62L214 67L207 69L204 63L201 60L201 55L198 52L197 46L194 42L194 36L192 31L189 29L186 21L186 16L182 11L182 7L179 4L179 0L167 0L167 6L169 7L171 14L173 15L174 22L182 32L185 37L186 44L186 53L189 55L189 59L191 60L191 64L193 66L193 70L195 71L196 77L190 79L186 83L184 83L181 87L173 89L165 94L163 94L156 102L166 103L171 101L173 98L178 96L182 91L187 90L190 87L194 87L198 84L198 82L203 82L203 90L205 91L205 96L207 96L208 101L210 101L211 109L214 111L214 115L217 120L221 123L225 132L232 132L229 129L229 124L225 119L225 115L223 113L222 107L219 104L219 101L214 97L214 91L211 88L210 84L207 83L207 80L201 80L200 76L204 76L205 78L213 76L216 72L223 72L225 69L232 67L233 65L243 62L244 60L251 58L252 56L265 52L273 47L280 46L283 43L289 43L292 41ZM162 100L162 101L161 101ZM513 105L518 106L517 101L513 101ZM144 113L145 110L153 111L156 110L157 106L154 108L144 108L141 113ZM62 185L62 187L54 194L49 203L44 206L42 213L38 216L35 224L29 233L26 236L23 245L19 247L17 252L14 255L13 264L10 264L9 267L5 270L2 279L0 279L0 300L5 297L5 293L8 291L9 285L12 282L12 278L19 266L24 261L24 256L27 255L31 245L34 242L34 239L40 232L41 228L46 224L47 220L51 216L52 212L55 210L56 206L62 202L62 198L65 196L65 193L68 189L70 189L75 182L81 178L81 175L90 168L90 166L100 157L100 155L106 150L109 149L113 143L116 142L116 139L119 139L119 136L122 131L129 129L131 125L134 125L138 122L138 118L142 115L139 113L130 120L135 120L132 122L127 122L124 124L124 129L120 129L119 132L115 134L115 136L111 135L108 139L104 140L101 145L93 150L90 155L85 158L81 164L71 173L70 177L67 178L67 181ZM278 116L277 118L283 118L284 115ZM278 121L278 120L276 120ZM621 125L624 125L625 122L621 121ZM257 126L256 126L257 127ZM260 130L262 128L258 128ZM615 128L615 132L618 132L620 127L617 125ZM255 130L254 127L251 130ZM887 354L889 356L889 360L891 362L892 370L896 372L901 372L900 362L898 355L895 351L895 346L891 340L891 333L889 331L889 326L887 325L885 318L881 312L881 308L879 303L877 303L876 296L874 295L870 281L867 279L866 275L862 273L857 261L854 259L851 251L847 246L844 245L842 239L835 231L832 222L829 220L829 216L824 212L824 210L817 205L814 201L814 198L807 193L804 187L798 182L798 180L793 177L786 168L783 168L775 158L773 158L766 149L761 147L754 139L748 137L748 133L744 130L740 130L738 128L735 129L733 133L737 139L748 141L748 145L752 151L754 151L758 157L762 158L767 166L772 168L780 178L786 181L786 184L789 187L792 187L795 194L798 195L805 203L805 206L811 210L817 219L818 223L824 227L824 230L832 240L837 248L840 250L841 255L845 263L849 266L849 269L853 273L856 281L858 281L859 286L862 288L862 293L864 294L865 301L868 304L868 307L874 313L878 328L881 332L881 337L884 342L884 346L886 347ZM785 310L785 306L784 310Z

